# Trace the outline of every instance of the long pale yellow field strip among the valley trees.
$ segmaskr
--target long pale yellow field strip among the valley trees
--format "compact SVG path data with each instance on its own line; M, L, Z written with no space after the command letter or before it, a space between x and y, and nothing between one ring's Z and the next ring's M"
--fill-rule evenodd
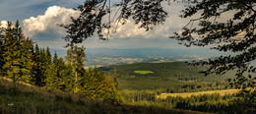
M190 97L191 95L200 95L200 94L213 94L220 93L224 94L232 94L238 92L238 89L222 89L222 90L210 90L210 91L199 91L199 92L185 92L185 93L161 93L157 96L157 98L166 98L167 96L181 96L181 97Z

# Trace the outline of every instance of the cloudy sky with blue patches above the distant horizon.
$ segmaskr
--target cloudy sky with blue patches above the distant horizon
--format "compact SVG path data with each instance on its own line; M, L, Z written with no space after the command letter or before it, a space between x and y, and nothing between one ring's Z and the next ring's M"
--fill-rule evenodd
M118 0L111 2L116 3ZM6 21L15 23L18 20L25 35L40 47L64 49L67 42L62 37L66 32L58 25L69 24L70 17L79 16L79 12L73 8L82 3L83 0L0 0L0 22L4 25ZM163 25L146 31L128 21L126 25L117 28L117 32L109 40L99 40L95 35L81 45L86 48L186 48L168 38L189 22L189 19L178 17L185 8L184 4L171 3L164 6L168 11L168 18Z

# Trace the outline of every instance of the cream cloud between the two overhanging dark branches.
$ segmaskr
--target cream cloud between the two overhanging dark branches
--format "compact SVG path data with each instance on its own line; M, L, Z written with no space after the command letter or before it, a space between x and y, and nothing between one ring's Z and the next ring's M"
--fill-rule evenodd
M128 20L125 25L118 25L118 28L110 29L112 38L168 38L173 35L173 32L179 31L188 22L188 19L181 19L181 9L184 8L183 3L172 3L170 5L163 4L165 11L168 12L168 18L163 25L158 25L149 31L145 28L139 28L139 25L135 25L133 21ZM112 24L114 25L114 24ZM116 26L116 25L114 25ZM113 32L114 31L114 32ZM107 29L104 30L104 34L107 35Z

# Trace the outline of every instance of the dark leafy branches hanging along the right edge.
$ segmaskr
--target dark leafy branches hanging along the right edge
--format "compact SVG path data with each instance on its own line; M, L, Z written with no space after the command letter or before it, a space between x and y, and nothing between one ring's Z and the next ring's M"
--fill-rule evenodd
M195 62L194 65L210 65L210 68L203 72L205 75L222 75L227 71L237 70L236 79L231 85L237 88L254 87L254 79L245 77L244 73L255 73L256 69L250 66L250 62L256 57L255 5L254 0L203 0L182 11L182 18L196 14L200 14L200 17L191 20L182 33L175 33L171 38L186 46L215 44L212 49L235 53L232 56ZM193 26L193 23L197 23L197 26Z

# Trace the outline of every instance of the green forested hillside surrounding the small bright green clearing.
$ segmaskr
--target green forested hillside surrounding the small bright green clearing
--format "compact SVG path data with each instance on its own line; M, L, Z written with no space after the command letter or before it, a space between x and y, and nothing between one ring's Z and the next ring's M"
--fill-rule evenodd
M188 92L224 89L226 80L234 78L234 73L224 76L200 74L206 67L190 66L184 62L138 63L100 67L106 75L117 76L118 89L144 90L159 92ZM141 74L137 72L151 72Z

